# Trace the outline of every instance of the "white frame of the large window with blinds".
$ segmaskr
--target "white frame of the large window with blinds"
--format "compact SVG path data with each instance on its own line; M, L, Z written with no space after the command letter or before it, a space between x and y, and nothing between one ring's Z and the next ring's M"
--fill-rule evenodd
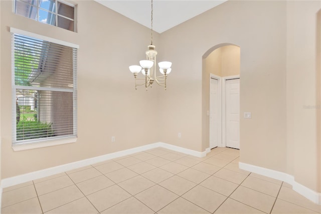
M65 42L65 41L61 41L61 40L57 40L54 38L50 38L50 37L46 37L46 36L42 36L42 35L38 35L38 34L34 34L31 32L27 32L27 31L23 31L20 29L16 29L16 28L10 28L10 32L12 34L20 34L20 35L24 35L24 36L28 36L28 37L33 37L36 39L40 39L40 40L45 40L48 42L52 42L52 43L56 43L59 45L64 45L64 46L68 46L71 48L76 48L79 49L79 45L73 44L73 43L69 43L69 42ZM12 43L13 49L15 44ZM12 106L13 106L13 115L12 115L12 121L15 124L16 122L16 89L18 87L16 87L15 85L15 53L14 51L12 51ZM76 70L77 65L73 65L74 66L74 70ZM74 84L77 83L77 76L74 75ZM19 86L19 89L23 88L23 86ZM52 88L44 88L44 87L35 87L35 90L52 90ZM59 90L59 89L58 89ZM59 90L60 91L60 90ZM74 92L73 96L77 96L77 84L74 85L74 89L64 89L63 91L70 91L70 92ZM76 129L77 127L77 103L74 102L74 129ZM17 132L17 126L13 125L13 133ZM13 139L13 141L15 141L15 139ZM58 139L52 139L52 140L46 140L44 138L40 138L40 139L33 139L30 142L26 142L23 144L13 144L12 148L14 151L21 151L21 150L27 150L27 149L34 149L34 148L41 148L41 147L47 147L47 146L54 146L54 145L60 145L60 144L66 144L66 143L74 143L77 141L77 137L73 136L73 137L64 137L62 136L61 138Z

